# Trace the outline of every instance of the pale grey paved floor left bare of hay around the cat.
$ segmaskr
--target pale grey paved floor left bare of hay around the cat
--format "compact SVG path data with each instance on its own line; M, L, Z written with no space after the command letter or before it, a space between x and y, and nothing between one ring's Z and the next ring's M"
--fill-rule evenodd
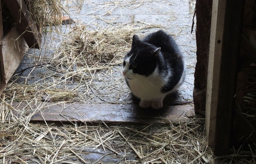
M185 56L186 61L186 79L181 86L177 95L171 95L166 98L165 104L188 104L193 102L193 88L194 88L194 72L196 64L196 39L195 27L194 32L191 32L192 19L194 14L194 1L192 0L119 0L119 1L87 1L87 0L72 0L64 1L63 4L71 13L71 18L76 22L85 24L88 29L104 29L108 27L117 27L120 25L141 23L150 25L159 25L161 28L144 29L140 31L141 35L146 35L150 32L163 29L171 34L180 46L181 52ZM66 25L63 25L63 32L68 32ZM28 54L24 57L16 73L20 70L28 68L31 65L37 64L38 56L51 58L55 52L56 47L61 42L62 37L48 37L42 44L42 49L30 49ZM40 62L39 62L40 63ZM83 103L91 104L131 104L134 99L129 94L129 89L124 82L124 78L120 73L122 65L114 67L113 72L114 81L121 80L122 85L116 87L117 89L105 89L106 92L101 92L95 96L95 92L102 90L98 86L102 83L108 83L108 79L102 79L101 73L92 81L94 87L92 91L84 96ZM22 73L17 74L11 80L16 80L15 83L24 83L25 79L28 84L40 84L47 80L47 70L43 67L36 67L32 70L28 69ZM97 73L96 73L97 76ZM43 79L42 79L43 78ZM45 82L45 81L44 81ZM51 82L49 82L51 83ZM98 87L98 88L97 88ZM61 88L61 86L60 86ZM72 86L70 86L72 88ZM67 88L65 88L67 89ZM79 92L84 92L81 89ZM99 98L99 95L102 96ZM115 98L112 98L115 97ZM103 101L102 101L103 99Z

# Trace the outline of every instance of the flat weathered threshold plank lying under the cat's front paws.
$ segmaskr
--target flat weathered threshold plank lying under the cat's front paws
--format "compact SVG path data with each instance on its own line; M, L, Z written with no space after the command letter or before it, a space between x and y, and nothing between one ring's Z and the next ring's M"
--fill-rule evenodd
M98 123L166 123L169 121L190 122L186 113L191 113L193 106L168 106L162 110L141 109L137 105L90 105L47 103L42 106L29 106L25 103L13 103L16 109L27 109L27 113L40 109L31 117L31 122L91 122ZM19 113L15 113L19 115Z

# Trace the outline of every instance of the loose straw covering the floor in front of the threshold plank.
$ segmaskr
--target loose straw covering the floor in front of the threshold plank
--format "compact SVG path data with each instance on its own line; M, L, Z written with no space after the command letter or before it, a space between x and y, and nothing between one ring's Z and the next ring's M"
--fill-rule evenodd
M1 103L1 163L205 163L213 160L203 126L196 123L33 124L29 123L32 113L26 115L26 111L19 111L23 114L16 117L12 110L17 109Z

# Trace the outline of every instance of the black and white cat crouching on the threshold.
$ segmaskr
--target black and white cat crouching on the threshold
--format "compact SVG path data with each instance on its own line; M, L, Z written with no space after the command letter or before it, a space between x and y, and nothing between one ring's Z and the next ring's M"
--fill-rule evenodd
M134 35L123 66L126 83L141 99L142 108L162 108L165 96L175 92L185 78L183 56L174 39L163 30L143 39Z

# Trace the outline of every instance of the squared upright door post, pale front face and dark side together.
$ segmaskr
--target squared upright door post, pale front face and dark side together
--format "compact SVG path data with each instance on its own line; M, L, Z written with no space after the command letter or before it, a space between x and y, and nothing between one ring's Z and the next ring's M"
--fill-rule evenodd
M243 6L240 0L213 2L205 128L216 156L230 147Z

